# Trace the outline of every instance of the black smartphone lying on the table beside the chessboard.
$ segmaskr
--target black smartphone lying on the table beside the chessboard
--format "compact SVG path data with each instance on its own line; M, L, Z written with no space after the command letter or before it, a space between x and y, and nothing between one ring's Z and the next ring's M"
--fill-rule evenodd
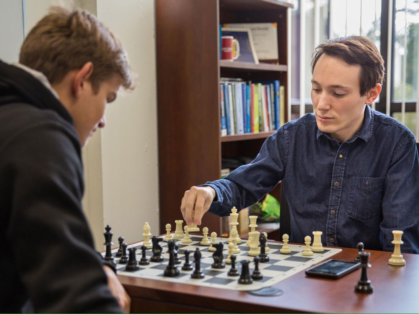
M320 278L338 279L361 267L360 262L328 260L305 271L305 275Z

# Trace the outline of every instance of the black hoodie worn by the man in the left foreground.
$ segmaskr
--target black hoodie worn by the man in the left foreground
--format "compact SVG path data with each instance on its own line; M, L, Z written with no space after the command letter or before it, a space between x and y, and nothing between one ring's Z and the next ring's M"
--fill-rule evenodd
M81 207L72 117L0 61L0 312L121 313Z

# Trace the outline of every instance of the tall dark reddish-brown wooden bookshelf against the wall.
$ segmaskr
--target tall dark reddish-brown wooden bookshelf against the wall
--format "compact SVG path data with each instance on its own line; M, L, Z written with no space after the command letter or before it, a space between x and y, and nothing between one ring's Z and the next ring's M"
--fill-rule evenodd
M160 234L182 219L184 192L220 179L221 157L256 156L274 133L220 136L220 77L280 80L287 99L287 9L277 0L156 0ZM222 23L276 22L279 65L219 60ZM287 105L285 105L287 117ZM272 195L279 199L279 187ZM202 227L220 234L221 218ZM202 229L202 228L201 228Z

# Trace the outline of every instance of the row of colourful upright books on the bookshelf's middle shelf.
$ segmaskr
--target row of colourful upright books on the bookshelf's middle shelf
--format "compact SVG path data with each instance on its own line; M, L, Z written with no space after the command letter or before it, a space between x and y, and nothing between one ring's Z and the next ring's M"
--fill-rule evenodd
M279 80L220 80L221 136L277 130L284 124L284 86Z

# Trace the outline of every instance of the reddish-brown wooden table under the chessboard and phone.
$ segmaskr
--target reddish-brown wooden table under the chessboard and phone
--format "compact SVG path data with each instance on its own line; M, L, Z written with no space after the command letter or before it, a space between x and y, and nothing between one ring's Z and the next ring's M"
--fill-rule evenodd
M353 260L356 249L341 248L332 258ZM305 276L299 272L274 285L281 296L253 296L181 283L118 275L131 296L131 313L418 313L419 256L403 254L406 266L388 265L391 252L371 253L370 294L356 293L361 270L338 279Z

